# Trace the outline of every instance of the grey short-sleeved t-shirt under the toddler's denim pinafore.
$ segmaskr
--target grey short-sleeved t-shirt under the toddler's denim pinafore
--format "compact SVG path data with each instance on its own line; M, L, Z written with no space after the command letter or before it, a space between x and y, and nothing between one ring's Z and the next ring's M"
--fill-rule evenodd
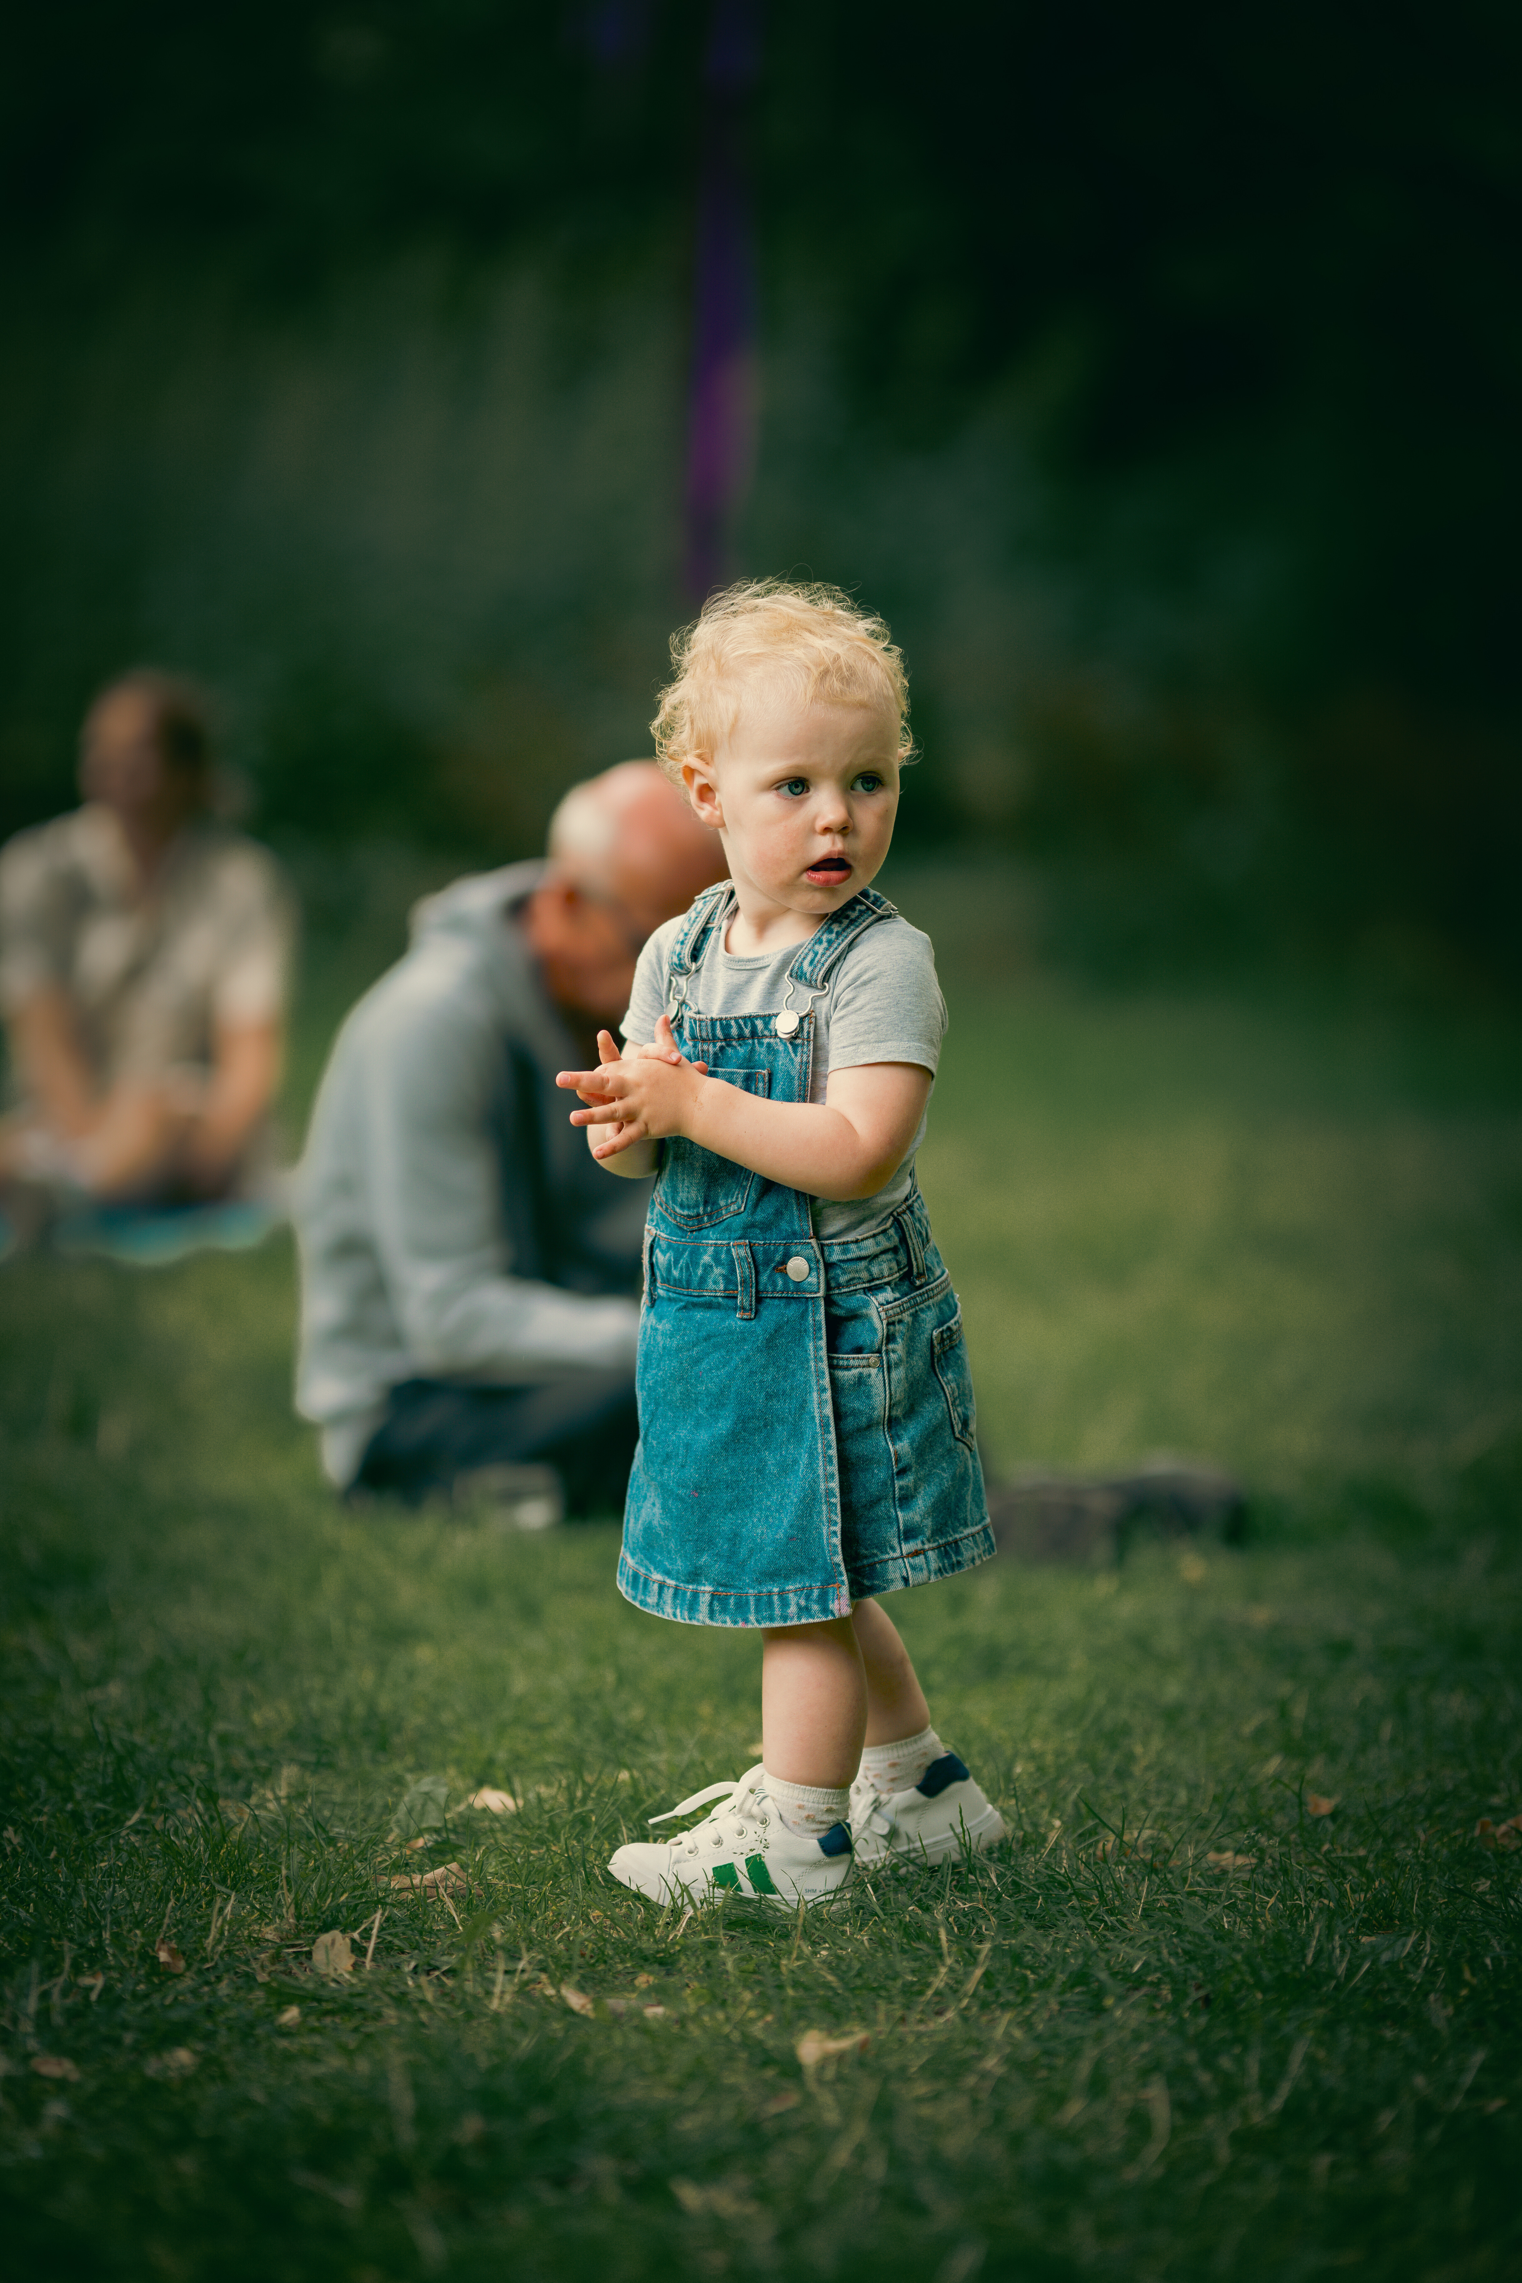
M630 1011L621 1030L625 1039L648 1043L666 1005L666 968L682 920L666 920L646 943L634 973ZM737 959L723 950L726 925L710 927L703 959L687 989L694 1014L778 1014L787 998L787 968L801 945ZM794 989L792 1005L808 1007L808 993ZM831 986L815 998L819 1050L810 1098L824 1100L831 1071L860 1068L867 1062L917 1062L936 1075L940 1041L947 1027L947 1002L936 982L931 938L908 920L879 920L867 927L844 954ZM924 1142L924 1119L904 1153L899 1171L876 1196L847 1201L815 1199L819 1237L865 1237L897 1212L915 1178L915 1151Z

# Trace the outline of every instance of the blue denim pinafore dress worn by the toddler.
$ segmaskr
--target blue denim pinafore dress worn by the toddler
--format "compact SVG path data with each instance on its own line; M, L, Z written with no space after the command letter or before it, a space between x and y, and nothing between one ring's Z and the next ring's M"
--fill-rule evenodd
M678 1046L805 1103L812 1002L894 906L872 888L799 945L783 1007L698 1016L687 989L730 886L675 936ZM993 1555L961 1308L920 1192L865 1237L819 1242L810 1199L691 1142L662 1144L646 1224L639 1450L618 1587L694 1625L803 1625Z

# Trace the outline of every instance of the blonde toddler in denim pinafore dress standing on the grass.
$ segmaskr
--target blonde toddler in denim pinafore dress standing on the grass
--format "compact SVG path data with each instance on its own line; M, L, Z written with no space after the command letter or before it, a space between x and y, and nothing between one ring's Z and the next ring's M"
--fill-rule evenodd
M760 1628L762 1765L609 1870L657 1899L796 1906L853 1861L1004 1838L876 1600L993 1552L915 1185L945 1002L929 936L872 888L913 751L888 628L835 589L758 582L671 653L657 753L730 879L646 945L623 1055L602 1032L602 1066L559 1084L612 1173L655 1173L618 1584L657 1616Z

